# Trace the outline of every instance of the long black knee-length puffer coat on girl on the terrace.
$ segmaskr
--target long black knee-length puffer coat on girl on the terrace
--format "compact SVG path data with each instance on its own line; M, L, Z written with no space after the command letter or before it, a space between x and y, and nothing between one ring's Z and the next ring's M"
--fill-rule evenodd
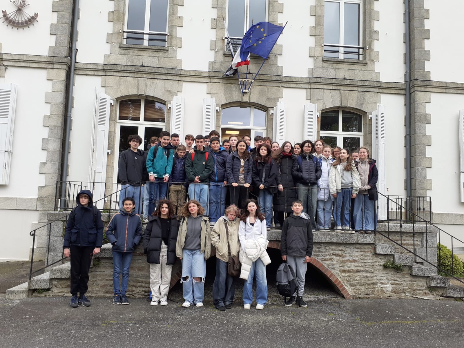
M277 176L277 185L282 185L284 191L277 191L274 195L274 211L291 213L291 203L296 200L296 188L293 181L292 168L296 161L296 155L280 155L277 166L280 169L280 175ZM288 188L286 188L288 187Z

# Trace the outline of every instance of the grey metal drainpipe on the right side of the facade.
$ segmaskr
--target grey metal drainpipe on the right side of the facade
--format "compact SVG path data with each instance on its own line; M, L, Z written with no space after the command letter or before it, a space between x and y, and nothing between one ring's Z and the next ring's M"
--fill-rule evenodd
M405 1L406 26L406 195L411 196L411 37L409 33L409 0Z

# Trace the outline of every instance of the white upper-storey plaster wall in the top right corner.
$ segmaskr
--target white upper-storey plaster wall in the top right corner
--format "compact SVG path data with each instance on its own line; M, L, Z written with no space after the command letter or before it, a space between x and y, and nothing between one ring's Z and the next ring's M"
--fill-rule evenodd
M424 7L430 9L430 19L425 19L425 28L430 29L430 39L425 40L430 61L425 61L425 70L430 71L432 80L464 82L464 70L460 68L464 54L460 41L464 36L464 2L425 0Z

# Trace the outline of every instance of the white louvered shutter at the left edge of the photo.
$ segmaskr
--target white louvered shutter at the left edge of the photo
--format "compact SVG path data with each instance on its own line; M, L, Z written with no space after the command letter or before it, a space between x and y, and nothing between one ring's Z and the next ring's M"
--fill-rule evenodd
M0 185L8 185L13 154L15 84L0 84Z

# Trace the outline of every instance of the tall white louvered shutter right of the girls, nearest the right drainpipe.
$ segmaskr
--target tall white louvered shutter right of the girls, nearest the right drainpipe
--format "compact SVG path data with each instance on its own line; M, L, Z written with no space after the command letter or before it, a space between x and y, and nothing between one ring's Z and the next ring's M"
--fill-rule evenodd
M379 178L377 191L386 194L385 178L385 106L378 105L372 114L372 154L376 160ZM387 200L379 195L379 219L387 219Z

